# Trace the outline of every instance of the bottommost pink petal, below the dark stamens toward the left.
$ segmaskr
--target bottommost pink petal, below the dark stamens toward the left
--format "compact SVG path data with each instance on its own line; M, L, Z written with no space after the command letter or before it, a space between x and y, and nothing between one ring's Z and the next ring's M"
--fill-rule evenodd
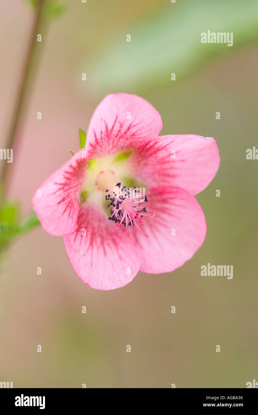
M139 270L140 255L132 239L87 202L80 206L76 228L64 236L64 243L75 272L91 288L123 287Z

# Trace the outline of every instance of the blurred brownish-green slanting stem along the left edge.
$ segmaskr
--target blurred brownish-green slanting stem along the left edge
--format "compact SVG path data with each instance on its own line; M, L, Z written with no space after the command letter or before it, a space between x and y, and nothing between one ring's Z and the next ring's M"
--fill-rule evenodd
M34 57L36 55L36 51L42 49L42 44L37 42L37 34L41 34L39 30L41 29L41 22L43 17L43 9L44 9L45 0L38 0L36 13L34 16L34 23L31 30L31 35L29 39L29 45L27 50L27 55L25 58L24 68L21 76L21 80L19 83L19 88L17 91L17 99L14 103L14 108L11 116L10 127L7 133L7 142L6 148L13 149L17 135L18 135L18 127L21 120L21 115L24 110L24 103L27 97L27 92L29 86L31 86L31 81L33 78L34 73L32 73ZM0 183L2 186L2 191L0 193L0 198L5 198L7 192L7 183L8 183L8 176L9 172L7 171L8 164L2 163L2 171L0 174Z

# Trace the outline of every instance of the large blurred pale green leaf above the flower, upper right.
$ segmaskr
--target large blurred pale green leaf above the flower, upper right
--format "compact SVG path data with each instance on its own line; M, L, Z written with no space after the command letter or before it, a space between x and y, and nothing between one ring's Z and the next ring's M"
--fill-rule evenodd
M107 36L88 73L105 93L149 89L176 82L215 56L231 56L258 39L258 1L165 2L162 10ZM233 32L233 46L202 44L201 33ZM126 35L131 41L126 41ZM171 73L176 81L171 81Z

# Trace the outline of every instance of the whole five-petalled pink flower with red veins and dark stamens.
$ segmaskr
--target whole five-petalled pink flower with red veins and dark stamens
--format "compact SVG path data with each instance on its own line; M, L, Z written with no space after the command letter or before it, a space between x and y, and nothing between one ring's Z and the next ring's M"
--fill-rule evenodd
M193 196L217 172L217 144L197 135L158 137L161 129L143 98L107 95L85 149L35 192L43 229L63 236L75 272L92 288L125 286L138 271L173 271L204 242L205 216Z

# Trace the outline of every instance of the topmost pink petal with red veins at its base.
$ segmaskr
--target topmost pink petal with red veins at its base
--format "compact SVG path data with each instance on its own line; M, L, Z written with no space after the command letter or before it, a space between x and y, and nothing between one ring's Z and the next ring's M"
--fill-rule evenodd
M91 157L128 151L142 140L157 136L161 129L159 113L145 99L125 93L110 94L92 115L86 148Z

